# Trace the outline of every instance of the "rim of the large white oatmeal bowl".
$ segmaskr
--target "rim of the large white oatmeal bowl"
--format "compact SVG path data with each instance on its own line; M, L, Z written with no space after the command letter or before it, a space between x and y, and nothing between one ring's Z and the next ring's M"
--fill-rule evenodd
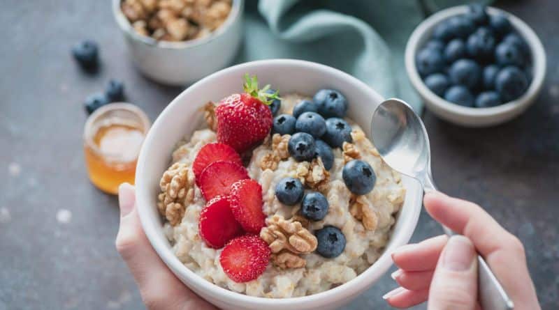
M321 72L328 72L329 75L336 75L338 79L349 79L352 84L355 84L358 88L361 88L362 91L368 93L371 98L375 98L375 100L382 101L383 98L379 95L376 91L370 88L367 84L359 81L355 77L348 75L345 72L337 70L335 68L331 68L327 65L321 65L319 63L313 63L310 61L300 61L296 59L273 59L273 60L262 60L262 61L252 61L248 63L241 63L239 65L234 65L232 67L220 70L218 72L209 75L201 79L200 81L196 82L186 90L184 90L180 95L177 96L168 106L164 109L164 111L159 114L158 118L154 121L150 132L148 132L147 137L145 138L143 148L140 151L140 156L138 157L138 166L136 167L136 176L140 175L143 170L145 170L145 165L148 162L146 160L146 153L145 148L149 148L150 144L152 144L154 139L154 135L152 132L157 131L157 128L160 127L164 121L163 119L168 117L168 114L173 113L173 107L177 106L182 102L182 98L187 97L189 93L196 91L196 88L199 86L206 84L206 83L214 83L216 79L222 77L222 75L227 75L229 72L249 72L251 68L254 66L259 65L266 65L269 67L269 70L273 70L273 67L282 67L284 65L290 65L297 68L305 68L306 70L315 70ZM177 274L182 274L184 277L189 279L192 285L195 285L197 288L201 290L205 290L212 295L219 295L219 300L226 300L227 302L231 302L232 304L251 304L255 307L268 307L268 306L282 306L282 307L289 307L298 305L300 307L308 307L310 304L314 304L316 302L324 300L340 300L348 295L352 295L352 293L356 290L361 290L370 286L373 279L378 279L382 277L386 271L392 265L392 258L391 252L396 247L400 245L405 245L409 242L409 239L412 238L412 234L415 231L417 226L417 222L419 220L419 214L421 212L421 197L416 197L419 199L420 203L418 206L412 206L412 212L407 217L407 222L404 222L406 229L402 229L398 235L392 234L390 237L391 246L383 251L381 256L370 265L367 270L358 274L357 277L351 279L345 284L337 286L335 288L331 288L321 293L307 295L303 297L289 297L289 298L265 298L265 297L254 297L245 295L242 293L236 293L232 290L228 290L226 288L222 288L215 284L212 284L210 281L203 279L202 277L195 274L189 268L187 268L184 264L182 264L179 259L168 249L166 244L163 240L159 240L157 237L157 231L161 230L158 228L156 223L150 218L148 213L148 208L155 208L154 201L149 201L149 189L147 188L148 185L147 180L143 180L142 178L136 177L136 197L138 202L138 214L140 215L140 222L142 223L143 229L145 234L147 235L148 240L152 247L154 247L157 254L161 257L161 259L166 263L168 268L173 270L173 272ZM422 191L418 191L416 195L423 196ZM401 219L398 219L401 220Z

